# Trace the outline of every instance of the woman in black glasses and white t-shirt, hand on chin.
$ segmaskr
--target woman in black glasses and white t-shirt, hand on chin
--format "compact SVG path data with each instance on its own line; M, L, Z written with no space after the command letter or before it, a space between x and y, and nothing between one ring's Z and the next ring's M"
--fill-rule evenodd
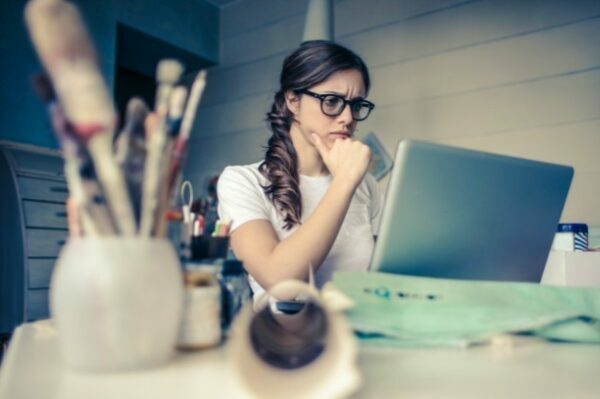
M361 58L305 42L285 59L280 84L265 159L227 167L217 188L255 301L279 281L306 280L310 267L319 287L333 271L367 270L382 209L366 175L369 147L353 138L374 108Z

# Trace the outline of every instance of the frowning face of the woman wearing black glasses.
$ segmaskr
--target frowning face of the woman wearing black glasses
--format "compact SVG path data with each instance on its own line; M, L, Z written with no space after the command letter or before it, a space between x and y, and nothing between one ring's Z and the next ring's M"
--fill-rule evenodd
M365 98L362 75L355 69L338 71L327 80L309 88L317 94L337 94L346 100ZM356 121L352 119L350 106L346 104L338 116L327 116L321 111L321 100L307 94L288 93L288 108L294 113L296 124L309 143L311 135L317 134L329 148L335 140L343 140L354 135Z

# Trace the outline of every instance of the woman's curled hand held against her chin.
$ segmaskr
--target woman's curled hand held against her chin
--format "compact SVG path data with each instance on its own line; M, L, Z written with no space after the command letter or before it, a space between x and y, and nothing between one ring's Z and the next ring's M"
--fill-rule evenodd
M312 135L315 147L329 169L329 173L356 188L367 173L371 159L371 149L358 140L338 139L328 148L319 136Z

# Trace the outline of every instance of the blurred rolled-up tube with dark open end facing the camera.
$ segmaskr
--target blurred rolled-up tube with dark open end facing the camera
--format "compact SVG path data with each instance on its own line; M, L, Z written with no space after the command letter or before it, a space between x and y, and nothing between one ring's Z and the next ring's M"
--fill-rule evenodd
M264 299L254 311L247 304L232 327L242 386L260 398L336 398L356 391L358 346L343 315L301 281L281 282L267 297L286 306Z

